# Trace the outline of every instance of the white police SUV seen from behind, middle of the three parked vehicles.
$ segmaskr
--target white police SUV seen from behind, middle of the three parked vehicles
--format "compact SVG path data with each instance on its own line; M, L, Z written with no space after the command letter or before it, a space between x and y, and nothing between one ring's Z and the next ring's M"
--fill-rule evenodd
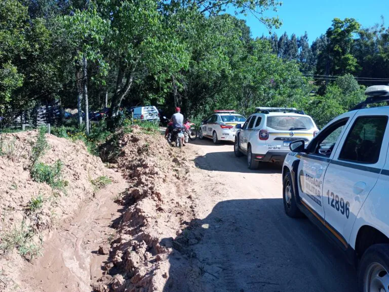
M314 120L295 108L256 108L238 129L234 152L237 157L247 155L250 169L259 162L283 162L292 141L309 142L319 131Z

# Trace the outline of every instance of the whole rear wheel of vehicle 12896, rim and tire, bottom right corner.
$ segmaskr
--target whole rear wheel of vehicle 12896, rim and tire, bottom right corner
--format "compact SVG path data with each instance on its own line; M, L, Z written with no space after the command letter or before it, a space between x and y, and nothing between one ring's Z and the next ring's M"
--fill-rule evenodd
M372 245L363 254L358 268L359 292L389 291L389 245Z

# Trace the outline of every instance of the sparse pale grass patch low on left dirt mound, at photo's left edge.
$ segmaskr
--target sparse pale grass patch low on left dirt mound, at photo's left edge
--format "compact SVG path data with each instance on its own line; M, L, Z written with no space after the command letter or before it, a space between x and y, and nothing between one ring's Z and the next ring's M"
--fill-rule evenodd
M3 219L4 225L4 219ZM41 244L36 244L33 240L35 235L32 228L27 226L23 220L19 227L14 226L8 231L3 227L3 231L0 232L0 250L4 253L17 249L18 253L26 258L32 259L35 256L42 255L42 241Z

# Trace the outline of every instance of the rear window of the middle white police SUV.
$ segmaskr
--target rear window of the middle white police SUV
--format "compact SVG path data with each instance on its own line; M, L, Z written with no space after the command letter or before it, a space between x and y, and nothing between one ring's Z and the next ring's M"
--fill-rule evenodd
M281 131L309 130L314 127L308 117L271 116L267 117L267 127Z

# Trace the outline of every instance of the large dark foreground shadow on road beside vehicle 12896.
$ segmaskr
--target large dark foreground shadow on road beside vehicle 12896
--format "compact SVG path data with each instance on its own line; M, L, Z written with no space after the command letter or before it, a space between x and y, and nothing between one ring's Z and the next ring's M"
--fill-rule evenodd
M169 256L172 291L355 291L356 272L307 219L285 215L282 199L218 203L184 222Z

